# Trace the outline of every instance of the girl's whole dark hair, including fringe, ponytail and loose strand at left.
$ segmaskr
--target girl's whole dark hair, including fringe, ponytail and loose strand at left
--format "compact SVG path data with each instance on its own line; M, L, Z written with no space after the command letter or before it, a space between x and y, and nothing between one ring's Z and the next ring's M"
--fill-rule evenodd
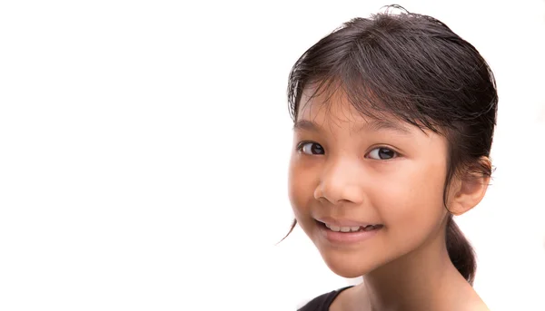
M490 177L490 156L498 95L488 64L473 45L439 20L389 10L354 18L312 45L293 65L288 102L297 120L302 91L341 90L362 114L388 113L449 141L443 203L454 176ZM297 220L292 223L292 229ZM470 284L473 248L450 214L446 243L454 266ZM286 235L287 237L287 235Z

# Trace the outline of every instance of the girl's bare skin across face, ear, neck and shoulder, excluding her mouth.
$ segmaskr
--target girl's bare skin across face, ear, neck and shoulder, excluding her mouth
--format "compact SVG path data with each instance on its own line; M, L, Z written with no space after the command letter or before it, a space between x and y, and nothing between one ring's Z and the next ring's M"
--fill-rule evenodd
M303 93L307 104L300 105L293 131L292 209L334 273L364 279L330 310L488 310L445 245L446 139L393 117L390 126L377 124L342 93L327 104L325 95L311 93ZM489 181L463 180L452 180L448 192L457 215L481 201ZM372 238L342 245L323 237L315 220L323 217L383 227Z

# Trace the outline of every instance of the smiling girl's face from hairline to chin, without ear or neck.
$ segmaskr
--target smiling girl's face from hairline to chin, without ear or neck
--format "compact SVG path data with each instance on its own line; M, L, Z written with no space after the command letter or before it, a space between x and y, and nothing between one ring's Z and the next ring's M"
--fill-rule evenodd
M446 139L363 117L340 94L325 99L302 96L289 195L328 267L361 277L443 238Z

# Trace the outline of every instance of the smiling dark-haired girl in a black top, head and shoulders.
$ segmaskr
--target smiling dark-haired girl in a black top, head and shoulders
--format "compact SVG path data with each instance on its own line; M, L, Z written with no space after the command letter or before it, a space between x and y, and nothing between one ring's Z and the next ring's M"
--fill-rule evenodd
M490 180L498 96L481 54L430 16L355 18L302 54L288 98L292 229L363 276L300 310L488 310L452 220Z

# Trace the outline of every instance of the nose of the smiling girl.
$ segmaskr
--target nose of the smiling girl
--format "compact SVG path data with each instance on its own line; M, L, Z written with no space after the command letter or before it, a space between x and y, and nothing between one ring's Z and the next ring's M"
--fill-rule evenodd
M314 190L314 199L329 201L332 205L361 204L363 200L362 170L351 160L337 160L322 170L320 182Z

